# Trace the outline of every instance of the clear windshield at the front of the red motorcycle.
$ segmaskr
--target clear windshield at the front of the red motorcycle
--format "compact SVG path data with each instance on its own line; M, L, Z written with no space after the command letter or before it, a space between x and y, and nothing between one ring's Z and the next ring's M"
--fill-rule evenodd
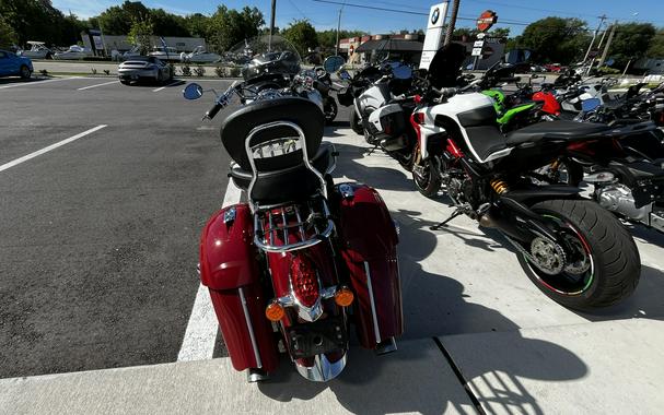
M257 36L233 46L225 60L242 66L245 81L266 74L295 75L300 72L298 49L281 36Z

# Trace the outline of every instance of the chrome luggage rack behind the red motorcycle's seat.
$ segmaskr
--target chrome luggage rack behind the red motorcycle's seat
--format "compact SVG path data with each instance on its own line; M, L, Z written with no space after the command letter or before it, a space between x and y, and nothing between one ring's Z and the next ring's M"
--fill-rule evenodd
M305 220L302 220L301 204L273 206L254 213L254 244L268 252L288 252L327 240L335 229L335 224L325 199L318 200L323 213L316 213L312 201L308 201L306 203L310 214ZM292 223L289 223L289 218ZM298 241L288 244L292 236Z

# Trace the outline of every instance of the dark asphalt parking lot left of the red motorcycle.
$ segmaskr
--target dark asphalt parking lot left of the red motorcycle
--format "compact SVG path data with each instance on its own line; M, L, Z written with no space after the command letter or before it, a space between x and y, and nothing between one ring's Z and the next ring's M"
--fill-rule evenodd
M0 377L175 361L228 158L182 82L0 81ZM223 88L224 81L208 82Z

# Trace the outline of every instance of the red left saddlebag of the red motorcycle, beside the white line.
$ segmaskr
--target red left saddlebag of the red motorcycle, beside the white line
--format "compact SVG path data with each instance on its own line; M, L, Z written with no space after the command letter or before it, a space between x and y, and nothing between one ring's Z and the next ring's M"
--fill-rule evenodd
M273 371L278 351L271 323L265 317L253 228L246 204L215 213L200 239L200 281L210 289L233 367Z

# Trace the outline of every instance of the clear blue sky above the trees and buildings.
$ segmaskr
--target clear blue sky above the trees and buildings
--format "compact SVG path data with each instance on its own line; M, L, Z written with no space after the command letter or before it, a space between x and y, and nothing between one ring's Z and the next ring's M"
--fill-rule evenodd
M121 0L51 0L53 4L65 13L77 14L79 17L90 17L104 11L110 5L121 4ZM427 14L436 0L330 0L346 3L341 12L341 28L360 29L372 34L389 33L392 31L426 28ZM257 7L269 22L270 0L143 0L150 8L161 8L176 14L203 13L212 14L219 4L231 9L245 5ZM380 10L356 8L352 4L373 8L398 9L409 13L397 13ZM662 0L461 0L457 27L469 27L474 20L485 10L491 9L498 14L496 27L510 27L512 35L520 34L527 23L549 15L561 17L580 17L595 28L599 23L597 16L605 14L610 21L650 22L664 27L664 9ZM295 19L308 19L316 28L327 29L337 27L340 4L328 4L315 0L277 0L277 26L286 27ZM423 13L419 15L416 13ZM503 23L501 23L501 21ZM608 21L607 21L608 23Z

